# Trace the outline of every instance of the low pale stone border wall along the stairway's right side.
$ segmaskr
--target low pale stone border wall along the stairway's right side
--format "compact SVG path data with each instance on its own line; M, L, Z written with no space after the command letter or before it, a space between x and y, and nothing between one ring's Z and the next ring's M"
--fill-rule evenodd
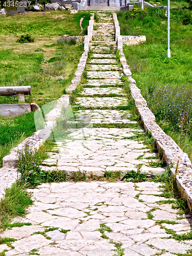
M144 124L144 130L152 133L152 137L156 140L158 150L164 153L167 165L174 164L171 169L172 176L176 176L177 186L183 198L187 200L188 207L192 210L192 169L188 155L184 153L177 143L166 135L159 125L155 122L155 116L147 107L146 100L142 97L140 89L136 86L136 81L132 78L130 66L126 63L126 58L123 54L123 40L120 36L120 27L117 20L117 14L113 13L115 24L115 35L117 40L117 49L120 50L120 62L123 68L123 75L126 75L131 84L130 89L132 97L135 100L141 120ZM176 173L176 165L178 164L178 173Z

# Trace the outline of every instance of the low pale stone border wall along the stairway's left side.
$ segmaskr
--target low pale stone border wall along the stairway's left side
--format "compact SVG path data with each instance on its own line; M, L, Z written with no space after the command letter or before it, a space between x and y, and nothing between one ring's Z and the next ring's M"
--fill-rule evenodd
M92 14L89 26L88 26L88 35L84 36L84 52L79 60L77 71L75 72L75 77L71 81L71 85L66 89L66 92L71 93L77 87L77 84L80 82L82 72L86 66L89 44L92 39L93 32L93 23L94 23L94 14ZM33 136L26 138L22 143L19 143L9 155L3 158L3 167L0 169L0 198L6 187L10 187L11 184L16 180L16 159L17 159L17 150L21 150L22 147L29 141L33 149L38 149L39 146L49 138L53 127L56 124L56 118L61 115L61 110L63 106L68 106L70 103L70 95L63 94L58 100L56 106L45 116L45 127L42 130L39 130L34 133Z

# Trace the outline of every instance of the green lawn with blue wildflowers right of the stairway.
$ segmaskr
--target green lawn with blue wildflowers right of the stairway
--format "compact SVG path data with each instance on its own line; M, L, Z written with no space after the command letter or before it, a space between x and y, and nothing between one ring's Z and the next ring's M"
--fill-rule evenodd
M185 6L186 2L182 2ZM175 7L175 2L171 2ZM192 160L192 24L183 25L186 13L170 10L170 53L167 50L165 10L145 9L143 18L119 12L121 35L145 35L146 42L125 46L124 54L133 78L156 116L158 124Z

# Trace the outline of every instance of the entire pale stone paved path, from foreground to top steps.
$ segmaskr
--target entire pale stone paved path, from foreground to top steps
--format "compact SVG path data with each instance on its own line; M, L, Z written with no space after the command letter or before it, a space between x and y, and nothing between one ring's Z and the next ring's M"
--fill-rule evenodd
M98 15L100 23L93 33L93 54L87 69L90 70L89 79L76 102L77 106L86 109L76 110L75 118L68 119L68 123L87 126L67 130L66 138L57 141L55 149L58 148L59 153L50 153L42 168L67 170L69 174L80 170L88 176L121 170L123 176L126 171L137 170L142 164L141 172L161 173L164 168L148 166L147 158L156 154L150 153L142 141L132 138L143 131L134 129L135 122L130 120L128 110L120 110L119 106L127 104L123 89L118 87L122 84L122 73L114 47L102 47L103 41L115 45L112 17L108 13L98 12ZM101 106L105 109L100 109ZM111 106L117 106L117 109L112 110ZM106 124L118 126L103 126ZM119 124L133 127L119 128ZM25 218L17 218L14 222L30 222L32 225L1 233L1 237L17 241L12 243L13 248L0 245L0 252L8 250L7 256L34 253L122 255L122 251L124 255L136 256L158 253L168 256L178 252L187 255L187 250L192 249L191 241L178 242L165 228L173 229L177 234L185 233L190 230L191 216L179 216L171 204L157 203L167 200L160 197L160 185L154 182L92 181L42 184L29 189L34 205Z

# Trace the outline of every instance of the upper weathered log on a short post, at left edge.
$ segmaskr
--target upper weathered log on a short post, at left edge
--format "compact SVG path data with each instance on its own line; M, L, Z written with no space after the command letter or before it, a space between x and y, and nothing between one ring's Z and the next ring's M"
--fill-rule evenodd
M30 86L0 87L1 96L18 95L18 101L25 101L25 95L31 95Z

